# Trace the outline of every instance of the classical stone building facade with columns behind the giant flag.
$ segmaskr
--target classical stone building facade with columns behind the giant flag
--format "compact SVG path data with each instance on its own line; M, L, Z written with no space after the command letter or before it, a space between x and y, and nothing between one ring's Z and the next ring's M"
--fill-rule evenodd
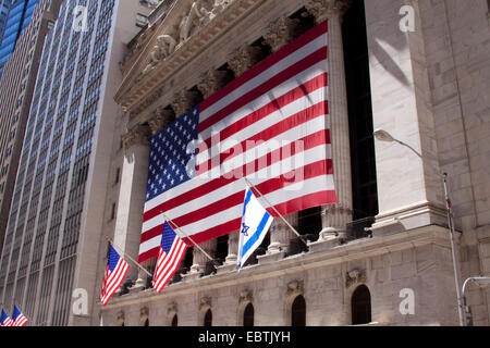
M101 235L136 259L148 138L324 20L339 204L316 210L310 225L305 212L287 216L303 224L304 250L294 250L294 235L275 221L266 250L240 273L236 234L228 236L216 273L204 271L206 259L194 249L182 278L161 294L133 264L128 282L106 307L94 293L89 315L73 315L73 323L244 325L253 318L257 326L458 325L439 173L448 173L462 277L489 276L488 13L485 0L162 1L121 62L124 78L114 98L123 114L111 153L114 181L103 202L111 214ZM356 71L363 59L364 75ZM366 96L359 112L356 100ZM356 122L366 114L363 124ZM375 141L377 128L420 156ZM362 174L366 169L372 171ZM201 247L222 250L216 239ZM98 250L90 279L96 285L107 262L105 248ZM155 262L143 266L151 271ZM489 324L489 294L467 291L476 325Z

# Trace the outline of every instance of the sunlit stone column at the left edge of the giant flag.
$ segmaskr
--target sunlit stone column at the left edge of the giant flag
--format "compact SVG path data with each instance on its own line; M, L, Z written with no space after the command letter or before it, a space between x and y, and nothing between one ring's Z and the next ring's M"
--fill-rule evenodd
M113 243L118 251L124 251L134 260L138 258L142 237L148 176L149 136L150 129L143 125L137 125L122 136L124 162L121 171ZM121 257L124 258L124 254ZM138 268L131 265L127 276L131 279L138 278L137 283L144 284L146 274L139 274Z

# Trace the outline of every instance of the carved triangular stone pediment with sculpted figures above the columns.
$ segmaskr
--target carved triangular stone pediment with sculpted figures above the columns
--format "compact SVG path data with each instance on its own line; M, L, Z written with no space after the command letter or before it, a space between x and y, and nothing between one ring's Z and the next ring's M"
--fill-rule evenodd
M171 8L157 28L148 28L150 38L124 76L115 101L134 116L152 105L172 89L172 77L211 39L246 10L261 0L180 0ZM181 86L180 88L191 86Z

